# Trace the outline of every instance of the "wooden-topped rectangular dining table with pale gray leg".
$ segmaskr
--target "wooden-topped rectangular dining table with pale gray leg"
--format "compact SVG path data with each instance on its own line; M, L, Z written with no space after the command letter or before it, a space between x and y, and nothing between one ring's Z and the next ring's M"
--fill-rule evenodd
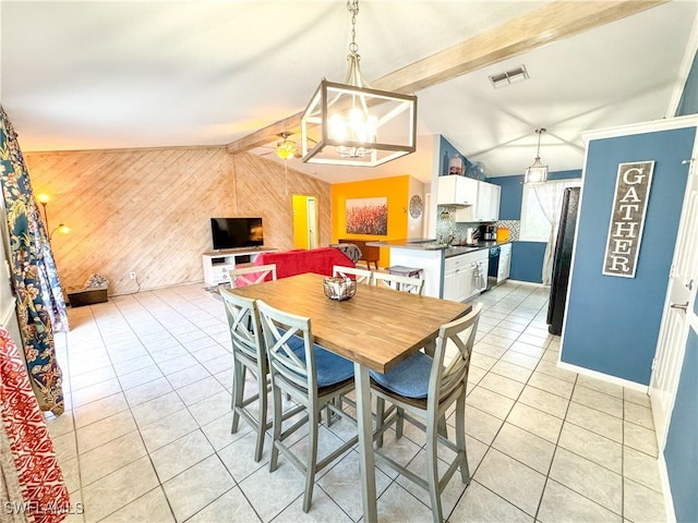
M315 343L354 364L363 521L377 521L369 370L386 373L429 346L442 324L470 312L467 303L358 284L349 300L325 296L325 277L306 272L232 289L287 313L309 317Z

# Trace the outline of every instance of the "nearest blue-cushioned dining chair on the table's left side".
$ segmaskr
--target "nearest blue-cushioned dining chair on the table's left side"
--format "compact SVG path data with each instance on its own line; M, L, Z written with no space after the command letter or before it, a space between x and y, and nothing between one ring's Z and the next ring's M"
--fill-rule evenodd
M257 301L262 330L266 343L269 374L272 376L273 447L269 471L278 465L279 453L305 475L303 512L311 507L315 474L338 457L349 451L358 441L358 435L317 460L317 428L323 408L334 414L356 418L335 405L336 398L353 390L353 363L314 343L310 318L285 313ZM291 397L305 410L302 419L293 418L291 426L284 426L281 394ZM293 452L298 446L291 438L308 426L308 452L305 461Z

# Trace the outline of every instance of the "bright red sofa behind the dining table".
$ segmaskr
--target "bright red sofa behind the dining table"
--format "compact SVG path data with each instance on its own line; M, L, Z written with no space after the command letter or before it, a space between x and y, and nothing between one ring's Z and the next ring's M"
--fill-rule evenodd
M332 276L332 268L335 265L342 267L356 267L344 253L334 247L318 248L297 248L277 253L262 253L254 260L254 265L276 264L276 277L288 278L289 276L301 275L303 272L315 272L323 276ZM265 281L272 279L272 275Z

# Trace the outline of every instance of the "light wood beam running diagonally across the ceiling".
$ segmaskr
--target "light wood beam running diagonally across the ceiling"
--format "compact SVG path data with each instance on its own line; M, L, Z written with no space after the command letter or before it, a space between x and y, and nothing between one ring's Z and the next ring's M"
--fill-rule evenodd
M669 0L555 1L371 82L371 87L412 94L541 46L615 22ZM310 97L311 93L309 93ZM228 144L230 154L298 133L302 112Z

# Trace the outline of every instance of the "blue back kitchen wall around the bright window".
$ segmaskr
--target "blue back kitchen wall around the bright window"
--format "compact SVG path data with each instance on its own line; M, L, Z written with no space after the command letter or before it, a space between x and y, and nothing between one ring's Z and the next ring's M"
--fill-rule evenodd
M581 178L581 170L555 171L549 180L567 180ZM488 182L502 187L500 196L500 219L520 220L521 199L524 197L524 174L515 177L489 178ZM512 245L512 268L509 278L518 281L541 283L545 242L514 242Z

